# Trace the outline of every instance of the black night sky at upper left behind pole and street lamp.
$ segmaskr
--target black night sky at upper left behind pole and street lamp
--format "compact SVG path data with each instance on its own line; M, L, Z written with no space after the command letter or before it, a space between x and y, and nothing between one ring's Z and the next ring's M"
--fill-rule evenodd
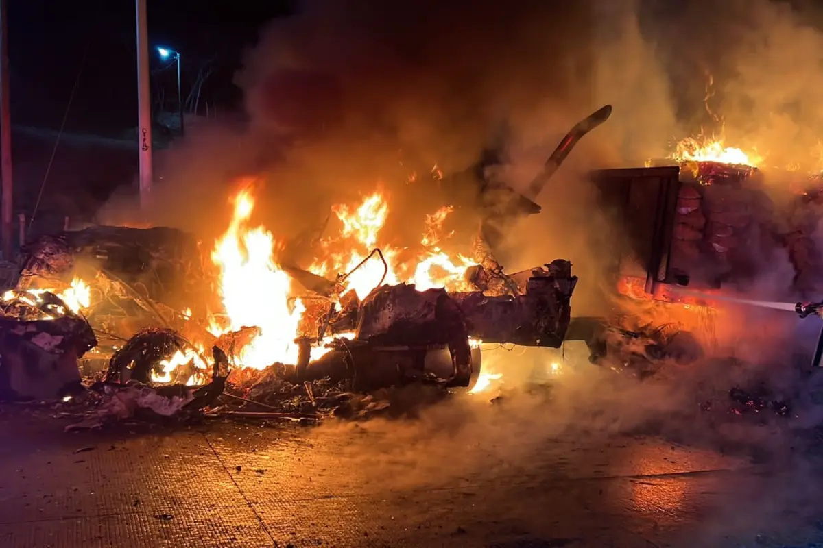
M152 69L163 63L154 48L178 50L186 94L186 72L214 57L217 69L203 86L202 100L230 108L241 100L231 81L244 48L253 44L261 25L287 16L295 2L147 3ZM137 126L135 2L19 0L8 2L7 10L14 125L60 127L82 70L66 131L122 136ZM176 97L174 73L157 78L169 86L166 95Z

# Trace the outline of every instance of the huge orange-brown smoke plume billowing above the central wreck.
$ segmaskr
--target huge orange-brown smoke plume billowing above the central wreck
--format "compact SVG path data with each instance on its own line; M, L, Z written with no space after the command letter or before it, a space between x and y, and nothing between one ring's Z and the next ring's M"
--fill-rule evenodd
M430 185L406 184L412 173L458 173L494 145L516 187L575 122L611 102L611 120L540 199L551 214L563 189L560 210L590 210L585 172L660 155L676 132L634 2L617 4L601 13L594 2L303 2L244 56L235 83L248 123L192 125L157 154L149 220L211 236L225 224L231 179L248 174L267 181L261 210L277 233L378 182L403 210L390 222L408 224L441 205Z

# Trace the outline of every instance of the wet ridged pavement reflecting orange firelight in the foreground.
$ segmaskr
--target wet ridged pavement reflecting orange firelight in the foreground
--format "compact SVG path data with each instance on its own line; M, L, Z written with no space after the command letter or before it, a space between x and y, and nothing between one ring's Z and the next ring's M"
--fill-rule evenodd
M817 546L820 472L464 408L63 433L0 408L2 546ZM542 417L533 417L539 425ZM819 467L817 469L820 469ZM820 513L823 517L823 513ZM823 545L821 545L823 546Z

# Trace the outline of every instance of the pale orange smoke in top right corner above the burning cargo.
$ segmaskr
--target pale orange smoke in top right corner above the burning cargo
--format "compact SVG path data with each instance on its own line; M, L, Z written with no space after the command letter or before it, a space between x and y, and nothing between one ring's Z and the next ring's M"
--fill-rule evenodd
M756 149L773 168L819 170L823 14L812 2L648 2L649 36L679 90L678 114ZM708 108L701 108L704 102Z

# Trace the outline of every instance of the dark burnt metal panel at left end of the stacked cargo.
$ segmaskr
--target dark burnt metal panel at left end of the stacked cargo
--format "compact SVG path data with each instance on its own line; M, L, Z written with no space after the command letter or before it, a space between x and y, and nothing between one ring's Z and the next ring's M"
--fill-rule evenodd
M669 256L680 191L680 168L602 169L592 173L616 234L613 274L645 279L645 292L658 283L678 283Z

